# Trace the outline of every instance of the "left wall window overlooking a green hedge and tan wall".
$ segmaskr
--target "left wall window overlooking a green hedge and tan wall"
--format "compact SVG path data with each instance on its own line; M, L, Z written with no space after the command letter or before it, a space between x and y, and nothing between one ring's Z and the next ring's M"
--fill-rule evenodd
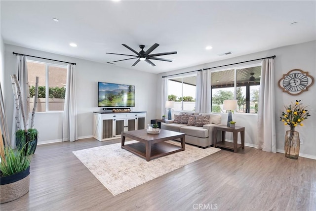
M27 60L30 85L30 112L33 110L35 80L39 77L39 100L36 112L64 111L67 67Z

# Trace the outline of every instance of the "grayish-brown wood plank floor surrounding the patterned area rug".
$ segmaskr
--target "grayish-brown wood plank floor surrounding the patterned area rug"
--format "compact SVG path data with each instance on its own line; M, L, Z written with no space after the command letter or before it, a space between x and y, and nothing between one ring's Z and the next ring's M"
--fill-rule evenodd
M1 211L316 211L315 160L249 147L221 150L113 196L72 151L119 141L39 145L29 193Z

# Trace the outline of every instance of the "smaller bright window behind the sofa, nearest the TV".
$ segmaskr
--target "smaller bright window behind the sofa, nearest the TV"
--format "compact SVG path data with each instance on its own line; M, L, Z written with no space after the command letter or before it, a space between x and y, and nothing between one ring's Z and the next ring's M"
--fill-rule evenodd
M197 76L168 79L168 100L174 100L175 111L195 111Z

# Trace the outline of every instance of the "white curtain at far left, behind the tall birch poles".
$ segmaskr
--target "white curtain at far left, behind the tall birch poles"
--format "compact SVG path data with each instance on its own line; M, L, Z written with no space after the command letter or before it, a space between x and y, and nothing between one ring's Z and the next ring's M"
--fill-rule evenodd
M27 68L27 61L26 57L23 55L16 55L17 58L17 75L18 75L18 81L21 86L21 94L23 97L23 106L25 108L25 114L26 114L26 124L29 123L29 111L30 111L30 104L26 102L26 98L30 92L29 88L29 79L28 79L28 68ZM11 135L11 146L16 147L15 145L15 132L17 130L16 122L15 122L15 115L16 110L13 109L13 121L12 121L12 135ZM23 124L22 124L23 125ZM23 128L24 129L24 128Z

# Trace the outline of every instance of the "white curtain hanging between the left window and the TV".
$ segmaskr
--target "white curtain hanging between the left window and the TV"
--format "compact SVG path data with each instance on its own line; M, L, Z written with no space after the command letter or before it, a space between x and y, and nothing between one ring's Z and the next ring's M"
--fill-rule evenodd
M63 119L63 141L78 140L75 65L67 65L67 84Z

